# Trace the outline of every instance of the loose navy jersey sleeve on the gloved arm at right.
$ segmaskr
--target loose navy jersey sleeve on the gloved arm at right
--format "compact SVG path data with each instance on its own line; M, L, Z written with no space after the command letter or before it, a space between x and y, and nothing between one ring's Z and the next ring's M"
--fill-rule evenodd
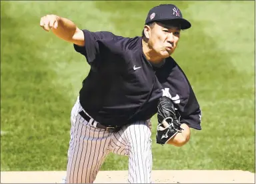
M201 109L189 80L175 61L169 68L168 75L160 79L163 96L171 98L181 123L201 130Z

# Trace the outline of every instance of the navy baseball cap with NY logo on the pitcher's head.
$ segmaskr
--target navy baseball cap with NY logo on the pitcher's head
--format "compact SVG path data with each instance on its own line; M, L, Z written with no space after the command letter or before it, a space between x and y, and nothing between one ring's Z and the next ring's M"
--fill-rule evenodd
M189 29L191 23L183 19L181 11L171 4L158 5L149 10L145 25L154 21L169 21L169 23L178 23L181 29Z

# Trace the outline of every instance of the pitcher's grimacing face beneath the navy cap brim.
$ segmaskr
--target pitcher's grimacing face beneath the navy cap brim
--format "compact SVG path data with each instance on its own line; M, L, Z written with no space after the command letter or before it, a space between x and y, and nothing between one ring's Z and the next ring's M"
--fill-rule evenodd
M181 29L163 23L155 23L149 29L149 47L159 57L169 57L176 49Z

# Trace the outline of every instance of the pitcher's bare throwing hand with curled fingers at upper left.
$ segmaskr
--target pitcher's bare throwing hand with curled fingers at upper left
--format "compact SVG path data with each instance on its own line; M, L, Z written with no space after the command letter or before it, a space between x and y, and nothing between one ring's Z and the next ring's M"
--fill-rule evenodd
M60 17L57 15L45 15L41 17L40 26L49 31L50 29L57 29Z

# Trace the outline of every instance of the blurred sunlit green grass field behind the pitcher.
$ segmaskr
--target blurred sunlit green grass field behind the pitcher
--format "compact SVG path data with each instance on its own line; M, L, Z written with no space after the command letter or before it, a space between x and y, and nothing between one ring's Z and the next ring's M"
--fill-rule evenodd
M203 117L183 147L157 145L153 117L153 169L255 173L254 1L1 1L1 171L66 169L70 112L89 65L40 18L57 14L81 29L133 37L161 3L192 23L173 57ZM111 154L101 170L126 170L127 162Z

